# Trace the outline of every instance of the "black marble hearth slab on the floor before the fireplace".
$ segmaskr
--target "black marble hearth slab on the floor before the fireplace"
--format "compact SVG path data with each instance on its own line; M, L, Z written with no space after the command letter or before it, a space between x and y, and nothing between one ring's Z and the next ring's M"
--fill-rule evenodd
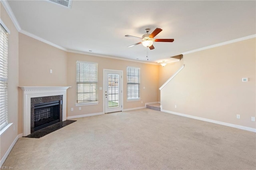
M63 121L63 122L59 122L59 123L56 123L54 125L51 125L51 126L48 126L46 128L42 128L40 130L36 130L36 132L33 132L31 134L29 134L28 136L25 136L27 138L41 138L43 136L45 136L46 134L49 134L51 132L54 132L55 130L58 130L60 128L63 128L71 123L74 123L75 121L72 121L72 120L66 120L66 121Z

